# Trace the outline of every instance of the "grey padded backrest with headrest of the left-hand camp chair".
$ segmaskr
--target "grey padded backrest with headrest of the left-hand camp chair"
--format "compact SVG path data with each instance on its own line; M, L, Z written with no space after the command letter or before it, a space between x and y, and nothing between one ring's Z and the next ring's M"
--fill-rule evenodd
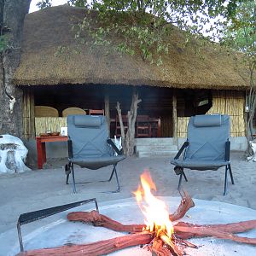
M108 125L103 115L68 115L67 133L72 140L75 159L113 155L107 143Z

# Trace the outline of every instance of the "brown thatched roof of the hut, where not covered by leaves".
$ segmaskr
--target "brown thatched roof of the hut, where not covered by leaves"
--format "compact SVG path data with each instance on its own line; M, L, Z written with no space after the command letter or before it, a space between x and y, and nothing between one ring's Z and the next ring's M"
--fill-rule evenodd
M26 15L17 85L39 84L131 84L176 88L243 90L248 86L246 68L232 56L213 46L195 53L196 41L182 48L183 32L175 28L169 54L157 67L138 55L121 56L106 48L90 50L86 44L80 54L55 56L59 46L74 49L77 42L71 29L83 19L84 9L67 5L51 7ZM216 44L215 44L216 46Z

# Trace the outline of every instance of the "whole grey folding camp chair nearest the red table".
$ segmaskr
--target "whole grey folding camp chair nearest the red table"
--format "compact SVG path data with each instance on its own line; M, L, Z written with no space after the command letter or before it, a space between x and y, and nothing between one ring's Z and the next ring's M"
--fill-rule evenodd
M108 138L108 125L106 117L96 115L68 115L68 164L65 166L68 184L69 174L73 176L73 192L76 193L73 165L82 168L97 170L103 166L113 165L113 171L106 181L111 181L113 173L116 177L117 189L111 192L119 192L119 178L116 171L117 163L125 159L125 156ZM113 155L113 150L118 156ZM105 181L102 181L105 182ZM86 182L90 183L90 182Z

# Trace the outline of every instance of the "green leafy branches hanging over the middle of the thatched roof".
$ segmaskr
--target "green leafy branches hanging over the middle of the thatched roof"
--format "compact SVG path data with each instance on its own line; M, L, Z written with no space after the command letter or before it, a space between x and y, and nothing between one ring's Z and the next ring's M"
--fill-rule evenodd
M135 2L131 4L131 1L108 1L108 4L107 1L103 4L95 1L90 8L97 10L97 18L94 11L89 11L79 29L76 27L76 38L83 41L82 35L86 32L94 47L111 46L122 55L137 53L143 60L161 63L161 55L166 54L169 47L163 38L171 28L166 26L165 19L149 15L141 9L142 6ZM153 58L153 55L158 56Z

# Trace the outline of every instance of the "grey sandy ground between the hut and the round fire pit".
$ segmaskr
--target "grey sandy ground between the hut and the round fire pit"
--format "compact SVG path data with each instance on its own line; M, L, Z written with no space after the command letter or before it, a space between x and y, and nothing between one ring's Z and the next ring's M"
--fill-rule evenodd
M96 197L99 202L125 199L137 189L139 176L148 169L157 186L157 195L178 196L178 177L173 172L170 158L136 158L123 160L118 165L121 192L106 194L102 191L115 189L115 183L87 183L77 185L77 194L72 186L65 184L63 166L66 160L49 160L44 170L35 170L0 176L0 233L14 229L19 215L46 207L55 207L73 201ZM256 210L256 163L244 160L243 153L231 154L231 166L235 185L229 183L228 195L224 192L224 168L217 172L187 171L186 189L195 199L222 201L250 207ZM76 180L108 179L111 167L90 171L76 168Z

